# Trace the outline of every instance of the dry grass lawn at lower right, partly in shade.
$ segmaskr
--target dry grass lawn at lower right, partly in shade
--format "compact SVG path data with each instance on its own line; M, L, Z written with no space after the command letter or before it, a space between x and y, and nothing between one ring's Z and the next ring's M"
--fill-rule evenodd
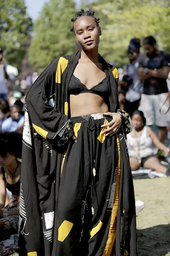
M134 180L139 256L170 256L170 178ZM12 254L17 256L18 254Z

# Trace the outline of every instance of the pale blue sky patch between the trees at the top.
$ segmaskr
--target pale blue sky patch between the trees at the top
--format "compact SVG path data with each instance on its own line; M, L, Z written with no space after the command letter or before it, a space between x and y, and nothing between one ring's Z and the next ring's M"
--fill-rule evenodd
M48 2L48 0L25 0L27 12L33 21L37 19L39 12L43 8L45 2ZM75 0L75 2L79 3L79 0Z

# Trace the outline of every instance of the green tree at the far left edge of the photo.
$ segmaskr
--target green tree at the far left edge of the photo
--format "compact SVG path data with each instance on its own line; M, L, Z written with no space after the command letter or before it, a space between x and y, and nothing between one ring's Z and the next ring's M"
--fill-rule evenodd
M24 0L0 0L0 47L5 61L21 68L32 20L28 17Z

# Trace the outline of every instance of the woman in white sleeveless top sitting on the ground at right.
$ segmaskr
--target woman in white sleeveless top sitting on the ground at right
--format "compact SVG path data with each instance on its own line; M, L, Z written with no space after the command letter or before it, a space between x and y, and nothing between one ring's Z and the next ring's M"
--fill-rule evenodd
M135 110L132 114L133 131L127 136L132 171L141 166L146 169L154 169L156 172L168 174L167 168L160 164L156 157L157 148L169 154L169 148L159 141L156 133L151 127L146 126L146 119L142 111ZM156 148L156 147L157 148Z

